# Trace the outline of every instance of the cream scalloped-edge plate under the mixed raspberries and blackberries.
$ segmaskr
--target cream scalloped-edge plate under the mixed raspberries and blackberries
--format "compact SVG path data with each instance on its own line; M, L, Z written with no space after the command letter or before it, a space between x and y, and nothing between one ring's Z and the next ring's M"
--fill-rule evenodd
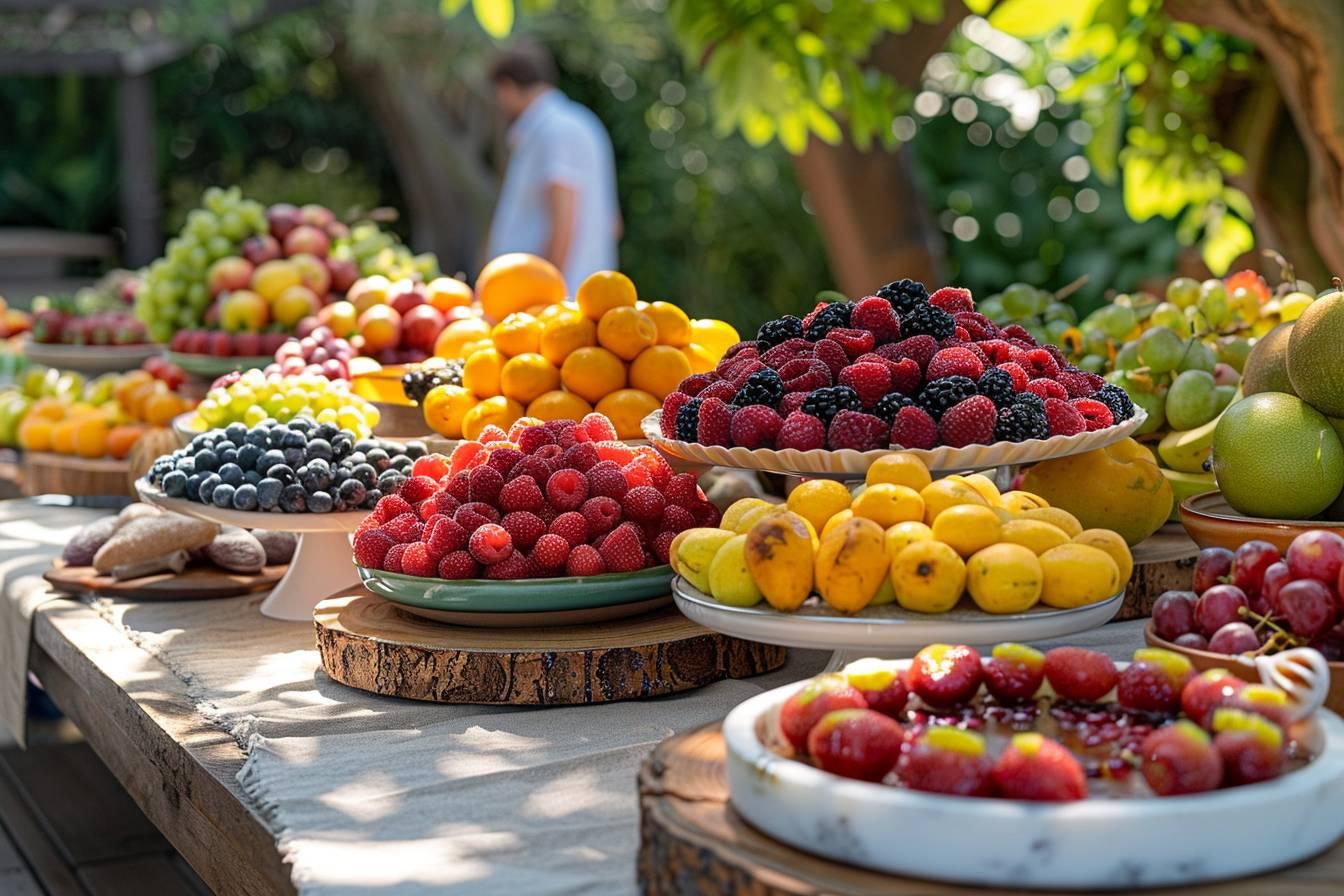
M680 461L708 463L711 466L734 466L763 473L784 473L809 477L863 478L872 462L892 451L903 451L918 457L930 472L956 473L958 470L988 470L995 466L1038 463L1056 457L1082 454L1114 445L1129 438L1144 424L1148 415L1134 408L1134 416L1124 423L1107 426L1103 430L1078 433L1077 435L1052 435L1048 439L1027 439L1025 442L995 442L993 445L968 445L966 447L939 446L935 449L879 449L874 451L853 451L840 449L827 451L814 449L745 449L679 442L663 438L663 411L657 410L644 418L644 434L649 442L664 454Z

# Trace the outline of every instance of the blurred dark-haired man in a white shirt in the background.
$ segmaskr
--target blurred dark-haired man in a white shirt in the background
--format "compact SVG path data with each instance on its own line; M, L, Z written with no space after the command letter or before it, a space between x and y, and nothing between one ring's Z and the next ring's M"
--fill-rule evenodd
M555 62L536 44L504 50L491 67L509 121L509 160L491 222L489 257L532 253L564 273L570 294L617 267L621 210L602 122L555 86Z

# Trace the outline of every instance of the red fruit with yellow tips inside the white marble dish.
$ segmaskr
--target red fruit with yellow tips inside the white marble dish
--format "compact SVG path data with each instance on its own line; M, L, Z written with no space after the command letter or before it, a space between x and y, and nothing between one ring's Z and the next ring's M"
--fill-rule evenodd
M1038 693L1044 682L1054 700ZM1289 743L1282 690L1223 669L1196 676L1157 649L1121 670L1081 647L1001 643L981 658L930 645L903 674L862 661L817 676L778 719L782 751L824 771L953 797L1141 795L1134 771L1153 795L1193 794L1275 778L1304 759Z

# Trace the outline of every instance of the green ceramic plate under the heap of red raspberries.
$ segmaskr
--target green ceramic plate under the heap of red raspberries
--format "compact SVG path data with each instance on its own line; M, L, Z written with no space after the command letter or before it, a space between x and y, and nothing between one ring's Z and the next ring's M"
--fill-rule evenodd
M523 579L422 579L401 572L359 568L364 587L392 603L426 610L470 613L539 613L590 610L646 600L668 594L672 567L638 572L614 572L591 578Z

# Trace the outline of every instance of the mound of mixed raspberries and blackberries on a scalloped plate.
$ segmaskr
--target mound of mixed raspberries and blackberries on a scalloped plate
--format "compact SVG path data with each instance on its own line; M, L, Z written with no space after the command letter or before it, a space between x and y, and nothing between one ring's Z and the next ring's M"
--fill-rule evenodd
M767 321L663 402L663 437L747 449L931 449L1074 435L1128 420L1118 386L1021 326L999 328L970 292L887 283Z

